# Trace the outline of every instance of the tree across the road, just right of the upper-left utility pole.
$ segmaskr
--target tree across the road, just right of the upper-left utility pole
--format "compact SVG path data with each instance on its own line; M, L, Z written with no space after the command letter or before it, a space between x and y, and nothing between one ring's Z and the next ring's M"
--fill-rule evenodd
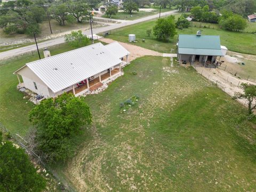
M66 21L69 23L74 22L74 17L68 12L69 9L66 4L52 5L49 11L60 26L65 26Z

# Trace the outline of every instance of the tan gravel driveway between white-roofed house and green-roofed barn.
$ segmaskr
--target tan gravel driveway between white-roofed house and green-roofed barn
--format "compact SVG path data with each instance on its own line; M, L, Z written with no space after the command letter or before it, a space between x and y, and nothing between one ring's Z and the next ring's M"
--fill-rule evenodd
M99 39L102 42L105 43L113 43L116 42L113 39L109 39L109 38L100 38ZM143 47L137 46L137 45L131 45L128 43L122 43L122 42L118 42L120 43L123 47L125 47L126 50L128 50L131 54L129 55L129 61L132 61L136 58L139 57L143 57L145 55L153 55L153 56L163 56L163 53L159 53L153 50L149 50L149 49L145 49Z

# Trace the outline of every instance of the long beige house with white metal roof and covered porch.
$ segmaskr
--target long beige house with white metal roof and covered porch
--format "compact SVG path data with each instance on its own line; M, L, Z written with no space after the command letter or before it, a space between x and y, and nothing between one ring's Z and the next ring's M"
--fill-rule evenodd
M46 50L47 58L27 63L13 74L17 75L21 86L45 98L64 92L79 96L98 89L103 82L120 74L121 67L128 63L129 54L117 42L96 43L52 57Z

